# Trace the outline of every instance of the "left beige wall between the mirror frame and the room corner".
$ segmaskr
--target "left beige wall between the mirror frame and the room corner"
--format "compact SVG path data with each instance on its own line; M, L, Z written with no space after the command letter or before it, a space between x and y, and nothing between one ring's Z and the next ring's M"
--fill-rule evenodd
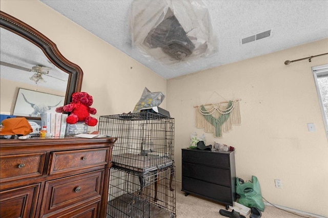
M1 0L1 10L46 35L84 73L97 116L133 111L145 86L166 95L166 79L39 1ZM104 27L110 28L110 27ZM131 69L132 67L132 69ZM166 99L161 107L166 107Z

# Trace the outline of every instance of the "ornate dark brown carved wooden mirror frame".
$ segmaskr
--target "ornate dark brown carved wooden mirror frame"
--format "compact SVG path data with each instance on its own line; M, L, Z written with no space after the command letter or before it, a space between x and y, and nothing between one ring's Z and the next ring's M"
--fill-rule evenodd
M38 32L33 27L25 24L23 21L3 11L0 11L0 27L5 28L34 43L34 45L39 47L56 67L69 74L65 95L65 104L69 104L71 102L72 94L74 92L81 91L81 84L83 80L83 71L81 68L75 63L67 60L59 52L56 44L45 35Z

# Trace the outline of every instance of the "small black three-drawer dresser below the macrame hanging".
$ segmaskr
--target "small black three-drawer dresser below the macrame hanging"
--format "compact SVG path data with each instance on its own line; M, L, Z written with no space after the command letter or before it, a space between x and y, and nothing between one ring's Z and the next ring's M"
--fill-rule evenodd
M222 203L236 200L234 151L182 149L182 191Z

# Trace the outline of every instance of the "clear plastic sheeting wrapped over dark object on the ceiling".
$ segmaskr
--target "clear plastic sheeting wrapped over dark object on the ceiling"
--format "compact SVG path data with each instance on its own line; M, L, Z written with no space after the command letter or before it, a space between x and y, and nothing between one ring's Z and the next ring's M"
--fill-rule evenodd
M149 60L175 64L215 51L208 9L201 1L140 1L131 7L132 47Z

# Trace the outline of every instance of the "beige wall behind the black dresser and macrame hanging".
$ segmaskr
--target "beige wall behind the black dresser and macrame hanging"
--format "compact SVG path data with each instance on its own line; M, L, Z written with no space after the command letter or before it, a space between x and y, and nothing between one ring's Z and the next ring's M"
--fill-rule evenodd
M328 141L311 71L327 64L328 56L284 65L327 49L328 38L168 80L177 179L181 148L189 146L191 133L203 133L195 127L194 106L241 99L241 125L221 139L206 134L206 144L235 147L237 177L257 176L269 202L328 216ZM308 132L307 123L315 124L315 133ZM275 188L274 179L282 181L282 189Z

